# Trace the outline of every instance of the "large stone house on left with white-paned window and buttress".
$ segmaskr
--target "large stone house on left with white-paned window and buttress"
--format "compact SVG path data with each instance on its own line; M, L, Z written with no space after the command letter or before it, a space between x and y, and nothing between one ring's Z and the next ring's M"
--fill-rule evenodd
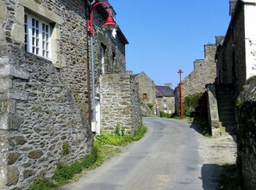
M57 162L70 164L91 152L88 15L84 0L0 1L0 189L25 189L38 176L52 176ZM100 27L106 16L103 6L94 9L98 123L108 114L116 120L116 112L128 115L122 125L135 130L141 118L136 85L126 71L128 40L120 28L112 33ZM109 100L101 96L104 75L119 78L114 86L123 81L113 100L120 106L111 114L101 107Z

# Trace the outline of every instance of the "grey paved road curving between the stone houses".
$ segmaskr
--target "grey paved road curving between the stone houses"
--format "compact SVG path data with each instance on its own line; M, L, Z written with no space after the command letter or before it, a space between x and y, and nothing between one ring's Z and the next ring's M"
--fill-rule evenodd
M200 190L202 135L184 121L144 118L145 138L62 190ZM204 176L206 177L206 176Z

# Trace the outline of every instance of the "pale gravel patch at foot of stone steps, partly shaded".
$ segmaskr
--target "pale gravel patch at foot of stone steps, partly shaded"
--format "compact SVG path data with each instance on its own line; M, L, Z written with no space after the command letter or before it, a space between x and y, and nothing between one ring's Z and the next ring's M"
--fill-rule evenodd
M220 189L223 166L236 162L236 138L226 135L219 138L202 137L198 141L199 153L203 159L203 189Z

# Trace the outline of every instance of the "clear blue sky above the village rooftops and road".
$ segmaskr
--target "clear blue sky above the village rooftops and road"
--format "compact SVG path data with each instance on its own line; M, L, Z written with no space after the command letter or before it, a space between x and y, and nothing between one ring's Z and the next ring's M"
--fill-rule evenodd
M127 37L127 70L146 72L157 85L179 83L204 58L203 45L225 35L229 0L109 0Z

